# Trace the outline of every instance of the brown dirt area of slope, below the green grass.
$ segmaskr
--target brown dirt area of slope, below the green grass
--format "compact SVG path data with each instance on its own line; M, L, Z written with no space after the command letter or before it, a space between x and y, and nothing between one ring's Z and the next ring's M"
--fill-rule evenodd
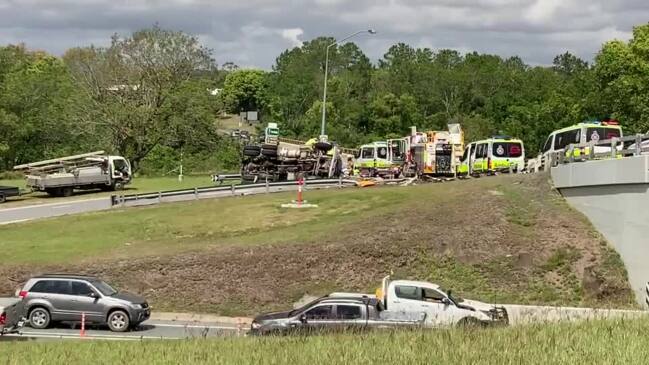
M456 182L366 223L331 227L310 243L219 247L88 265L0 268L10 294L37 272L98 275L162 310L250 315L305 294L372 291L395 273L485 300L629 306L619 257L563 202L547 175ZM450 185L449 185L450 186ZM459 187L460 185L458 185ZM437 188L437 187L436 187Z

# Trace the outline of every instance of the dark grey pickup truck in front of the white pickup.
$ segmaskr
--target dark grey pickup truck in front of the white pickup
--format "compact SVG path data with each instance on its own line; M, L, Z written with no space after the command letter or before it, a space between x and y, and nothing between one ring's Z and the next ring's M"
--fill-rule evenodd
M251 335L311 334L423 326L424 316L383 311L376 298L332 293L292 311L257 316Z

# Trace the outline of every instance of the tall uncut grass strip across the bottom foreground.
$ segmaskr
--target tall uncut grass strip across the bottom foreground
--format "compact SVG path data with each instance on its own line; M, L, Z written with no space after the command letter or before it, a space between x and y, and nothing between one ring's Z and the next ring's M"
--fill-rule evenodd
M5 364L646 364L649 322L187 341L16 343ZM91 359L91 360L89 360Z

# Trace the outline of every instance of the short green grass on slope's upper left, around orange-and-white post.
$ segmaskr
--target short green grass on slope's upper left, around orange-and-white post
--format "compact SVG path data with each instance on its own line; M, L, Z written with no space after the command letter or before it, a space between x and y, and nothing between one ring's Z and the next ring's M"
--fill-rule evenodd
M385 194L389 193L389 194ZM140 257L223 245L302 242L348 219L363 220L397 204L410 191L309 192L320 209L285 210L295 193L257 195L150 208L124 209L0 226L7 262L60 264L73 260Z

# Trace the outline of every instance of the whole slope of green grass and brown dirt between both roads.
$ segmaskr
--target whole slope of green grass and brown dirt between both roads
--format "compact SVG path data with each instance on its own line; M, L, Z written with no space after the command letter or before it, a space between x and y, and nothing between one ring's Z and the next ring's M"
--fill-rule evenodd
M158 310L252 315L305 294L373 292L394 271L490 302L633 306L619 256L546 175L309 191L319 208L279 208L293 198L2 226L0 295L35 273L82 272L142 293Z

